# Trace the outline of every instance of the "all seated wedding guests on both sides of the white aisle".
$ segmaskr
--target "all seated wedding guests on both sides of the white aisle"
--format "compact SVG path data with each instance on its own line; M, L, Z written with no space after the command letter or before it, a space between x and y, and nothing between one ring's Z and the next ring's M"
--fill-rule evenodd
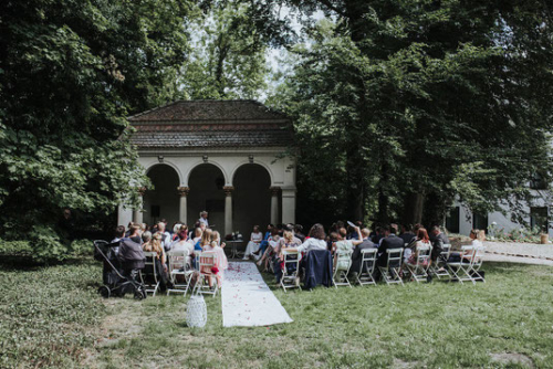
M243 259L255 259L258 265L262 266L264 271L274 273L276 283L279 283L283 275L284 251L298 253L302 263L301 271L304 271L305 260L310 252L328 251L331 272L343 270L348 273L349 278L355 280L362 272L362 251L365 249L377 250L376 266L380 267L387 265L387 250L403 249L403 268L405 265L415 264L419 250L425 246L431 246L427 265L430 266L440 257L444 245L449 244L448 236L441 232L439 226L432 226L428 232L421 224L416 224L413 228L401 225L399 232L396 224L377 226L374 231L363 226L361 222L355 225L349 224L346 226L343 222L336 222L328 232L325 232L324 226L316 223L307 235L303 234L303 228L300 224L269 224L264 233L260 231L259 225L254 225ZM473 245L481 246L478 235L479 231L472 230L470 238L473 240ZM168 275L168 253L170 252L186 251L186 255L188 255L186 263L196 270L198 270L198 255L200 253L216 253L216 267L211 272L218 286L221 286L223 272L228 266L223 251L226 243L221 242L219 232L209 229L206 212L200 213L200 219L191 230L180 222L176 222L170 230L167 230L166 220L161 220L152 228L145 223L135 224L133 222L128 224L126 230L119 225L112 244L117 245L114 247L114 252L123 273L133 280L136 280L138 271L144 268L144 252L155 253L160 291L170 288L171 281ZM344 259L340 257L345 254L351 260L344 262ZM445 262L463 263L470 261L470 257L469 252L451 253ZM298 275L300 277L302 273ZM378 268L375 268L375 280L379 276ZM428 274L428 282L430 281L431 275ZM213 282L209 276L210 286Z

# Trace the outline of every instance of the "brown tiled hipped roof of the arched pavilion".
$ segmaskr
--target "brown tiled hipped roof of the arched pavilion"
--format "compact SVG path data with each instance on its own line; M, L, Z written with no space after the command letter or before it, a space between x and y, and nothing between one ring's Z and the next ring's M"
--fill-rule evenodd
M254 101L179 101L128 118L139 148L286 147L288 117Z

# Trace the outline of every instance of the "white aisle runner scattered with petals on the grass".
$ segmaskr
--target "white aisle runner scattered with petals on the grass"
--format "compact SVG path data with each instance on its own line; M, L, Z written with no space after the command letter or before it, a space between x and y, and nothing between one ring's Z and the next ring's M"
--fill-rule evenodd
M221 291L222 326L252 327L293 321L251 262L230 262Z

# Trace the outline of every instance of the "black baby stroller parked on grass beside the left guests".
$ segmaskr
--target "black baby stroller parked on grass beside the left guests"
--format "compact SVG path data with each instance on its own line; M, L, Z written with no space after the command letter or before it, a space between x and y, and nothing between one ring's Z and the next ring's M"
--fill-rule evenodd
M118 246L119 242L94 241L94 259L104 262L104 285L98 288L98 294L105 298L112 295L123 297L132 291L136 299L146 298L146 288L140 283L124 277L115 266L118 261L113 249Z

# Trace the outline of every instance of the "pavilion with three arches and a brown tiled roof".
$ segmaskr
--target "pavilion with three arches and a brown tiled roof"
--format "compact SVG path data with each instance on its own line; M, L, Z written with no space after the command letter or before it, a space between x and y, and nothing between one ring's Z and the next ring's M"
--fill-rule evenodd
M202 210L221 234L295 222L291 123L254 101L179 101L128 118L152 188L131 220L190 226Z

